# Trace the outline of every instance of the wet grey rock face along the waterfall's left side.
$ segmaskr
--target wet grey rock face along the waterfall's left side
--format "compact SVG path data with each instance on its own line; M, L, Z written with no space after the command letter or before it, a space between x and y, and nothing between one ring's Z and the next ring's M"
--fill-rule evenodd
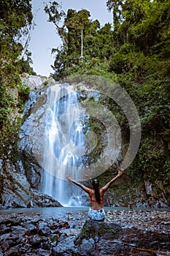
M55 81L53 78L27 74L24 74L21 80L23 84L30 86L31 93L23 111L26 121L20 128L18 141L20 158L16 157L15 163L10 160L12 146L9 145L7 155L1 156L3 160L0 159L0 208L58 207L61 206L58 201L38 192L42 168L31 154L27 119L36 104L36 99L39 99L37 108L45 102L45 94L41 92L45 85L52 86ZM34 110L36 111L36 108Z

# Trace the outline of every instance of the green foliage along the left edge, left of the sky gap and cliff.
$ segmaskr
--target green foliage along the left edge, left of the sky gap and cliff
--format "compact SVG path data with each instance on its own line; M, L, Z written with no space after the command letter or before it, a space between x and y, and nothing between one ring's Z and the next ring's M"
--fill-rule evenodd
M21 85L20 74L33 73L29 66L31 53L25 49L33 18L30 2L0 1L0 154L1 159L7 156L14 165L19 159L18 129L22 123L18 113L29 93L28 87ZM26 56L23 56L25 51ZM0 176L0 191L3 189L1 182Z

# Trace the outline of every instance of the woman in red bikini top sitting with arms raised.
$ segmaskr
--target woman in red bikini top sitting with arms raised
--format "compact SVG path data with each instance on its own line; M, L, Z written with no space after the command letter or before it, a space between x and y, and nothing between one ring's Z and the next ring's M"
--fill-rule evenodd
M71 181L75 185L81 187L81 189L83 189L90 196L90 208L89 208L89 211L88 211L88 217L90 217L90 219L93 219L93 220L104 221L104 218L105 218L105 212L104 212L104 209L103 209L104 193L107 191L107 189L109 189L110 185L114 181L117 180L117 178L122 176L123 172L124 172L124 170L120 169L118 171L117 176L115 176L115 178L112 178L112 180L109 181L101 189L99 189L99 182L98 182L97 179L94 179L92 181L92 189L89 189L88 187L85 187L84 185L80 184L79 182L74 181L74 179L72 179L69 176L66 176L66 179L68 181Z

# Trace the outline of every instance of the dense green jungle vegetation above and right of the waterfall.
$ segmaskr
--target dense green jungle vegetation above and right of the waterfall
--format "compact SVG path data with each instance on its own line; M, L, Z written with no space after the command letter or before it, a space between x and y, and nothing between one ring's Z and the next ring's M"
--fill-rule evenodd
M98 20L90 19L88 10L64 13L56 1L46 5L49 21L63 42L53 49L53 78L100 74L119 83L133 99L142 122L141 146L128 172L134 182L161 179L168 185L170 1L108 0L106 4L113 26L101 27ZM126 130L125 118L120 122Z

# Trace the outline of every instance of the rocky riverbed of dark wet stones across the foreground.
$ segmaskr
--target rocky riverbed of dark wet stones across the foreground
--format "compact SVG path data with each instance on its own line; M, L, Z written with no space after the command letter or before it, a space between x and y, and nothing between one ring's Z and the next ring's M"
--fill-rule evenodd
M170 255L169 211L105 211L104 222L90 221L88 209L0 212L0 256Z

